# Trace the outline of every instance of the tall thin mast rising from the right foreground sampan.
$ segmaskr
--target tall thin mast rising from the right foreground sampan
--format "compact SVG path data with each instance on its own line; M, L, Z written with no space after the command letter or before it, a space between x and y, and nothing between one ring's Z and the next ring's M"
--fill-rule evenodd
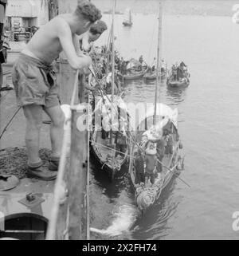
M157 68L156 68L156 84L155 84L155 112L153 124L156 124L157 116L157 100L158 100L158 90L161 83L161 55L162 55L162 19L163 19L163 5L159 1L159 31L158 31L158 49L157 49ZM160 73L159 73L160 70Z

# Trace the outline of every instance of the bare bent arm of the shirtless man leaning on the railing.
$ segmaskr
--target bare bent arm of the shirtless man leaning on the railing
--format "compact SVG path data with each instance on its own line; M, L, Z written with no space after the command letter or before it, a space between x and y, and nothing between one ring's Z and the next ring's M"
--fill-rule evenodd
M88 68L88 66L92 63L91 58L84 55L80 55L80 57L77 56L76 49L73 45L72 31L70 30L69 24L61 18L58 18L57 22L57 36L59 37L61 47L68 58L69 65L71 65L73 69Z

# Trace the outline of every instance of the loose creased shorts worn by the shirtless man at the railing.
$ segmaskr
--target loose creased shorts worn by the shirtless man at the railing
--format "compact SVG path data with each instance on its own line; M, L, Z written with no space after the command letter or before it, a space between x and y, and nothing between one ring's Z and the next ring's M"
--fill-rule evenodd
M52 108L60 104L59 86L51 65L20 53L12 77L19 106Z

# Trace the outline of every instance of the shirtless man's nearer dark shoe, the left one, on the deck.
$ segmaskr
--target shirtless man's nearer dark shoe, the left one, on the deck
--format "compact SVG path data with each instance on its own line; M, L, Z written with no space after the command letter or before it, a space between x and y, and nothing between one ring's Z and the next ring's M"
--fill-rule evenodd
M42 166L42 162L38 164L27 166L27 176L29 178L37 178L42 180L53 180L57 178L57 174L54 171L49 171Z

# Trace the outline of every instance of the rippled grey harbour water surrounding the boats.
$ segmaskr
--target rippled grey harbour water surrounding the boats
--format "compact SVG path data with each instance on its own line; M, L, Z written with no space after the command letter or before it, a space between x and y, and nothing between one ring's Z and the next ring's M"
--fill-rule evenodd
M239 211L239 26L229 16L236 2L208 1L207 9L205 1L194 1L203 15L186 13L189 1L180 2L184 14L172 4L173 14L163 15L163 59L169 67L184 61L191 74L190 86L168 89L163 82L159 101L178 108L186 155L180 177L190 187L173 179L151 211L130 228L116 232L114 239L239 238L239 231L232 227L233 212ZM222 10L207 14L225 2L224 14ZM143 10L142 6L133 14L131 28L122 26L123 15L116 15L116 48L125 59L142 54L151 64L156 57L157 10L151 14ZM110 26L112 16L105 14L103 19ZM107 37L106 33L97 44L105 44ZM153 102L155 82L131 81L123 91L126 102ZM137 215L127 177L108 183L99 167L92 165L91 190L93 227L106 230L117 218L127 219L128 212L119 215L122 205L131 205L131 215ZM113 237L92 233L92 238Z

